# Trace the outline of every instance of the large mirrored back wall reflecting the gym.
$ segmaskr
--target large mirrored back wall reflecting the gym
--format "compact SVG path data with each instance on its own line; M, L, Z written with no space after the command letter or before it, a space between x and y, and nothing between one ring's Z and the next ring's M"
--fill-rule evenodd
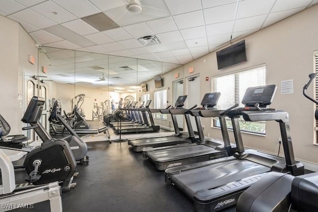
M63 114L78 106L86 120L102 122L105 114L118 108L121 98L124 104L137 101L138 107L151 100L150 108L164 108L184 93L179 64L52 47L40 48L38 58L38 95L46 97L48 113L53 101L60 100ZM153 117L162 129L173 130L169 115ZM183 118L178 121L183 128Z

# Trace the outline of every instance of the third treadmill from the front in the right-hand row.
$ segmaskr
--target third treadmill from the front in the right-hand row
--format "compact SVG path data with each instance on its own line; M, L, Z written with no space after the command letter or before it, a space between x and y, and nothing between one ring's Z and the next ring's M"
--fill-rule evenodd
M151 138L138 138L128 140L128 144L133 147L135 152L142 152L144 149L150 149L155 147L170 146L170 145L182 145L191 144L196 142L194 132L192 130L190 115L185 114L187 109L183 108L184 102L187 96L179 96L175 102L174 108L166 109L150 109L152 112L161 112L163 114L170 113L175 133L171 136L151 137ZM176 120L176 115L181 114L185 116L185 120L188 126L187 132L180 132Z

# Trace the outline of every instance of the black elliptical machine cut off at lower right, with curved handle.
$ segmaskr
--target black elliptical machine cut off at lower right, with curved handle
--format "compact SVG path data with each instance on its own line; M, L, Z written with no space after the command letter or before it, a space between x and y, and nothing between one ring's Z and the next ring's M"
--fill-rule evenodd
M318 105L306 94L317 76L309 75L303 88L304 96ZM318 120L318 109L315 111ZM314 212L318 211L318 173L294 177L288 173L270 172L239 197L237 212Z

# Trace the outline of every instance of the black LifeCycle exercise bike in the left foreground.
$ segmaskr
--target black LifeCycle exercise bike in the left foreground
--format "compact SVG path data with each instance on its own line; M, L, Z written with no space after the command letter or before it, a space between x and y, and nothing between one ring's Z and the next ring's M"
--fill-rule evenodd
M24 159L23 166L28 174L25 180L33 185L58 181L61 183L62 191L66 192L76 185L72 183L73 176L77 175L75 173L76 160L68 142L62 139L52 139L40 123L44 103L43 98L32 97L21 119L22 122L30 124L22 129L34 129L43 141L41 146L32 149ZM9 132L9 124L0 116L0 136L3 137ZM20 145L23 146L23 144Z

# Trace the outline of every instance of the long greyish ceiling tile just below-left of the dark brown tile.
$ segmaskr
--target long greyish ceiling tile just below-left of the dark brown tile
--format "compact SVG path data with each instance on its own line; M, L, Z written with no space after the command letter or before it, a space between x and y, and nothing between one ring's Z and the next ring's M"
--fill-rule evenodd
M96 43L92 42L91 40L88 40L87 38L80 36L79 34L75 33L74 31L62 25L51 26L51 27L45 28L44 30L56 36L62 37L66 40L69 40L72 43L75 43L81 47L96 45Z

